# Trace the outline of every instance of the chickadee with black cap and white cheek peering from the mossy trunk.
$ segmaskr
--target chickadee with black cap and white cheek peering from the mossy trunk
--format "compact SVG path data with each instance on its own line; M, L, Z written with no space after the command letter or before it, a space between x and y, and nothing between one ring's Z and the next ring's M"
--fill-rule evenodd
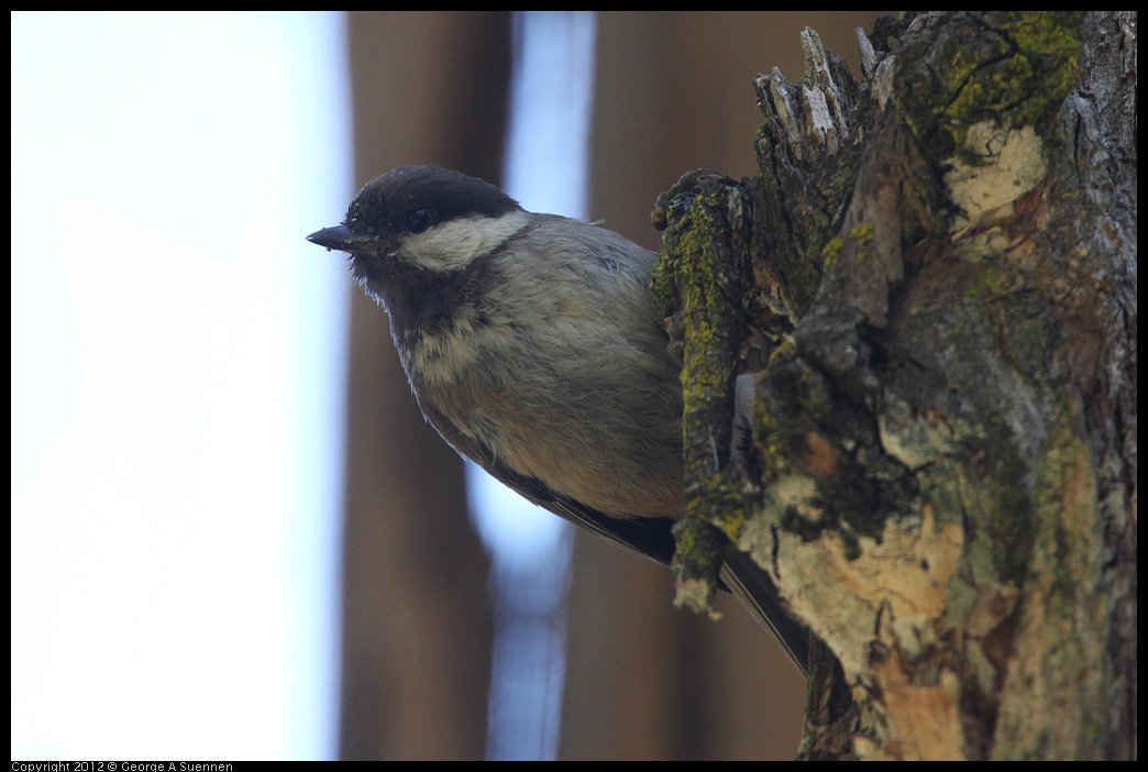
M350 254L447 442L532 502L669 565L682 387L650 295L654 253L440 167L378 177L341 225L307 238ZM804 669L808 633L768 574L731 549L722 579Z

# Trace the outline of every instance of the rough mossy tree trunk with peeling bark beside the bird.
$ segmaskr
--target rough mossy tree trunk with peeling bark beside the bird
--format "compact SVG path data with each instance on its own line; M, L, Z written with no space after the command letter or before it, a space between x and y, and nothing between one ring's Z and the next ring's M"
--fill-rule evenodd
M1135 33L885 20L859 84L807 31L758 177L659 207L689 512L816 639L804 757L1135 757Z

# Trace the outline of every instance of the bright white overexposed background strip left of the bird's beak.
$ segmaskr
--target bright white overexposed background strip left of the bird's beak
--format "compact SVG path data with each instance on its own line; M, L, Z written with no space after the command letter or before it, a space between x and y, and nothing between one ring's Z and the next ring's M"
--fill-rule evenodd
M335 752L336 14L11 17L11 756Z

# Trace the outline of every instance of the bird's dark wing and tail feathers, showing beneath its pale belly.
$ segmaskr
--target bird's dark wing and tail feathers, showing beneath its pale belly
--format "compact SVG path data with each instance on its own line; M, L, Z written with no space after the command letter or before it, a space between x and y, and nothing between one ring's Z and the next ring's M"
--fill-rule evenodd
M542 480L521 474L503 463L482 442L458 431L442 412L430 409L425 415L439 433L464 457L484 469L499 482L527 501L546 509L587 531L636 555L669 566L676 549L668 517L621 519L561 494ZM801 672L809 662L809 632L785 611L769 574L745 553L730 547L721 569L721 589L731 592L748 609L758 623L782 644L785 654Z

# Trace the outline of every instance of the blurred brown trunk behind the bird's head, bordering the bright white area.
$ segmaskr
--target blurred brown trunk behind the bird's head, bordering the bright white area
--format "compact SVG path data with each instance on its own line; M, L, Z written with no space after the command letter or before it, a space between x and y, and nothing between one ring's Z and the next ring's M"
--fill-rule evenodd
M430 162L498 183L510 15L348 23L356 184ZM348 292L340 756L482 758L491 612L463 464L422 419L386 314L350 280Z

